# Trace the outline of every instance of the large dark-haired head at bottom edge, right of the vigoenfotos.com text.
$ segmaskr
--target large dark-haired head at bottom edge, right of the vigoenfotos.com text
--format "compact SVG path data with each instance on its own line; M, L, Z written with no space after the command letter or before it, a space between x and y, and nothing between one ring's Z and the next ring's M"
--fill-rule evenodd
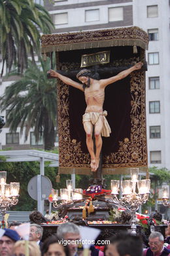
M143 243L139 236L129 233L112 236L105 248L106 256L142 256Z

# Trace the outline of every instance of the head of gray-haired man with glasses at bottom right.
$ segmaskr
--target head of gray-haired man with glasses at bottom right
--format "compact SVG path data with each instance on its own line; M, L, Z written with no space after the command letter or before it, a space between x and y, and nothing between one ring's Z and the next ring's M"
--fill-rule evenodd
M160 232L151 232L148 237L148 244L153 253L158 253L161 251L164 243L163 235Z

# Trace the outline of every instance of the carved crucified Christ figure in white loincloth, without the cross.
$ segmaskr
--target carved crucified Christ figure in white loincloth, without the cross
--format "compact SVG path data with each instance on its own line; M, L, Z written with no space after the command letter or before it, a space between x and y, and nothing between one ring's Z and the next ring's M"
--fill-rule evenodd
M93 78L94 74L91 70L80 70L76 75L76 78L81 82L77 83L73 81L69 77L59 74L54 70L49 70L48 74L51 77L56 77L63 81L66 85L71 85L80 91L84 92L85 100L86 100L86 111L82 118L82 123L84 125L84 130L86 132L86 144L88 147L88 151L91 156L91 163L90 167L92 171L96 171L99 167L99 155L101 152L102 146L102 139L101 135L104 137L109 137L111 130L109 127L109 123L105 116L107 116L107 112L103 111L103 102L105 99L105 87L110 85L110 83L114 83L120 79L123 79L131 72L135 70L141 69L143 66L142 62L138 62L131 68L120 72L117 75L109 77L107 79L100 79L97 80ZM92 132L93 132L93 125L94 125L94 135L95 135L95 152L93 148L93 139L92 139Z

